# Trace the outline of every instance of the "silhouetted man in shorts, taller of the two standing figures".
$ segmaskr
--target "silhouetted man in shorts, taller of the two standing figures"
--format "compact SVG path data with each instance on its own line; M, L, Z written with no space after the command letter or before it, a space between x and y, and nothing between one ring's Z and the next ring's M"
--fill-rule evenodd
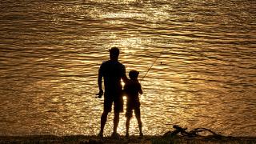
M102 90L102 78L104 78L104 110L101 117L101 130L98 134L99 137L103 137L104 126L106 124L107 115L111 111L112 104L114 102L114 129L111 137L119 138L117 133L119 123L119 113L123 112L123 99L122 99L122 84L127 81L126 67L122 63L118 62L119 49L113 47L110 49L110 60L102 62L98 70L98 98L103 95Z

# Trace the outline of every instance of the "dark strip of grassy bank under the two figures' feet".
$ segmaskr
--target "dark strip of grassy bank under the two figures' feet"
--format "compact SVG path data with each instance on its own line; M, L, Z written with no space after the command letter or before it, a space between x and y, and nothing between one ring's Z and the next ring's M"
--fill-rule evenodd
M251 137L195 137L187 138L184 136L166 137L162 136L131 136L130 138L121 137L119 139L96 136L71 135L71 136L54 136L54 135L34 135L34 136L0 136L0 143L250 143L256 144L256 138Z

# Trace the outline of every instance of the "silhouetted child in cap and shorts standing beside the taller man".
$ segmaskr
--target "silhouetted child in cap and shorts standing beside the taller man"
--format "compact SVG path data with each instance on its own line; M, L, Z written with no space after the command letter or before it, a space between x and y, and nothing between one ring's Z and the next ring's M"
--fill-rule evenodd
M142 134L142 120L141 120L141 111L140 111L140 102L138 94L143 94L142 86L138 82L139 72L136 70L131 70L129 73L130 79L127 80L126 85L124 86L124 91L126 93L127 102L126 102L126 137L129 137L129 126L130 119L132 118L133 110L135 117L138 121L139 135Z

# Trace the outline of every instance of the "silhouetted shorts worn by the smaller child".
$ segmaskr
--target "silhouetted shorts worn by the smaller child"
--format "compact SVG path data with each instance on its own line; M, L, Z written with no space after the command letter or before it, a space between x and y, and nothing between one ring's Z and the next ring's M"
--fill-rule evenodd
M126 118L133 117L133 110L136 118L141 117L140 102L127 102L126 104Z

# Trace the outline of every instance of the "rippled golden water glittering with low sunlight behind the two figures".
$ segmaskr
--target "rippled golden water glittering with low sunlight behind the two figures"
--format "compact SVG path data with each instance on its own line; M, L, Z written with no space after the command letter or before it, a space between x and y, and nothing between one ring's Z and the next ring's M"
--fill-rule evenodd
M256 136L255 11L250 0L2 1L0 134L97 134L98 67L118 46L140 79L156 60L142 81L145 134Z

